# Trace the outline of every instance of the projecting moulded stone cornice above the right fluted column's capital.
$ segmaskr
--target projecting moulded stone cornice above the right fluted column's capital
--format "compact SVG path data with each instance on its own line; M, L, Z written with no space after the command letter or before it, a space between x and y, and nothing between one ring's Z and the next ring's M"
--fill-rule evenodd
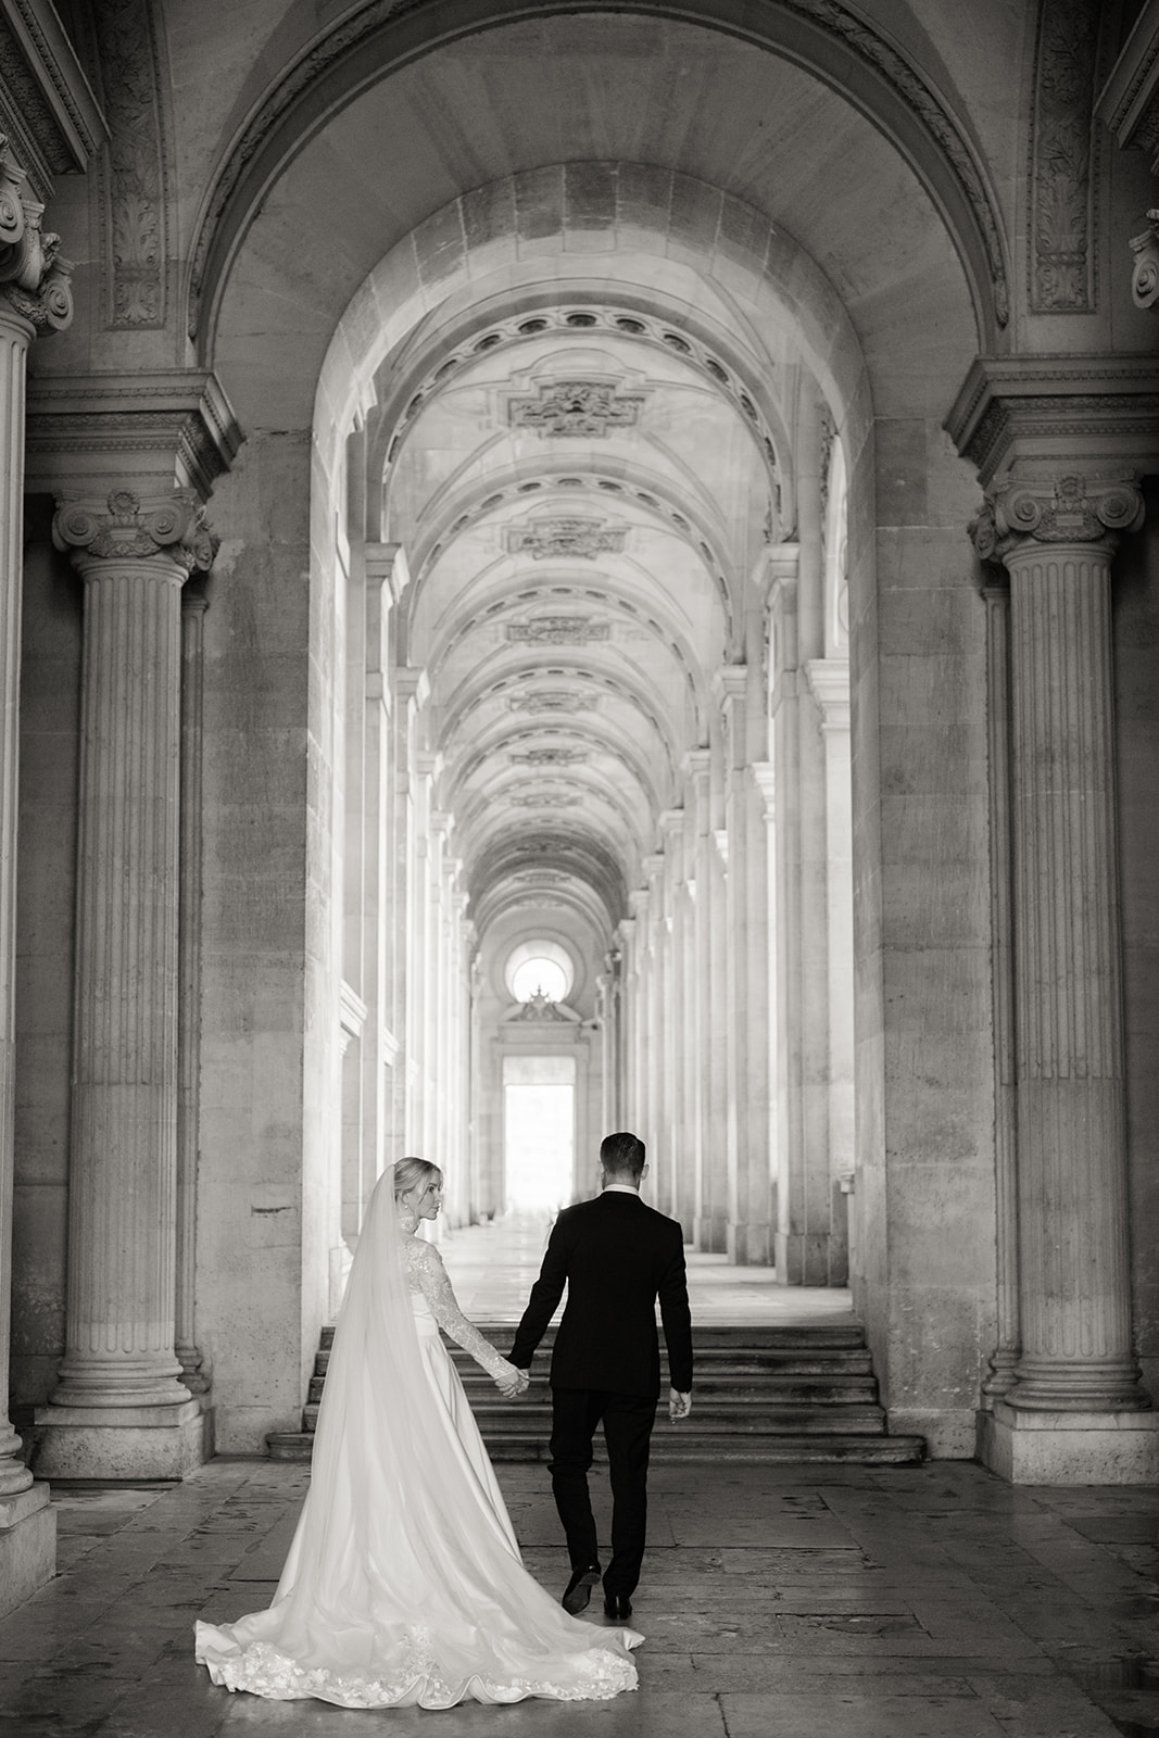
M983 488L1013 464L1154 469L1159 356L978 356L944 428Z

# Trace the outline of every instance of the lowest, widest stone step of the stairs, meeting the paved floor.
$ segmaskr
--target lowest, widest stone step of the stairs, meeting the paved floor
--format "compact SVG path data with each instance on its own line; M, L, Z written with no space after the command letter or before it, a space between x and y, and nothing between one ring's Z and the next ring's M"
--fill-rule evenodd
M308 1430L271 1430L266 1437L271 1460L309 1460L315 1437ZM535 1432L523 1437L500 1437L487 1444L492 1460L542 1462L547 1443ZM919 1436L765 1436L737 1437L699 1436L685 1432L652 1439L655 1465L702 1465L719 1462L732 1465L791 1465L813 1462L820 1465L848 1463L858 1467L905 1467L923 1460L924 1439ZM605 1465L603 1446L596 1444L596 1465Z

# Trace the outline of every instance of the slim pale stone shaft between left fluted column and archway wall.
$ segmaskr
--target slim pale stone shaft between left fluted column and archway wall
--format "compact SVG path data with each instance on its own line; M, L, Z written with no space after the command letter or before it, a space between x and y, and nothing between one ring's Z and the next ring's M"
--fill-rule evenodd
M181 888L177 895L177 1297L176 1352L181 1380L205 1394L196 1345L196 1173L202 1055L202 726L205 610L191 584L181 594Z

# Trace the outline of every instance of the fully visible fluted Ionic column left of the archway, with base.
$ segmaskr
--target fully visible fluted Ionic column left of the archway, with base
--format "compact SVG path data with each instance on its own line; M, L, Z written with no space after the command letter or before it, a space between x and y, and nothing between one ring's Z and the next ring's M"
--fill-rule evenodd
M181 1477L202 1406L174 1352L181 587L214 554L193 492L63 501L82 575L68 1330L38 1469Z

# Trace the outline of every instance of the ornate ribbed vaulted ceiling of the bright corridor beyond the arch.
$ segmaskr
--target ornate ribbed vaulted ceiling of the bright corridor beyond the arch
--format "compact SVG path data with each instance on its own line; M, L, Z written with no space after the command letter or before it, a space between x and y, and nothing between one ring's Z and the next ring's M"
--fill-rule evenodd
M742 322L601 289L417 334L375 450L476 926L549 899L606 940L711 740L787 492Z

